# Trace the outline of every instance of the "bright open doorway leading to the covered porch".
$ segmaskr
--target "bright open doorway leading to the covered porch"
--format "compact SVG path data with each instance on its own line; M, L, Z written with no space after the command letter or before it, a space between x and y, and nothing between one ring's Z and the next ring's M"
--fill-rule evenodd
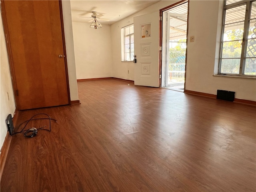
M188 2L162 14L162 87L184 91Z

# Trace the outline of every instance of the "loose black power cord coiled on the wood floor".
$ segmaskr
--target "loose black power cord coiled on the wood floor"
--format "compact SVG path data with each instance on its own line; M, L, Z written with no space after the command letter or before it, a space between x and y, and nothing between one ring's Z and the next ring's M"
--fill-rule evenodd
M35 118L35 119L33 119L35 116L38 116L38 115L46 115L46 116L48 116L48 118ZM28 125L28 123L29 123L30 121L33 121L33 120L42 120L42 119L48 119L48 120L49 120L49 129L44 129L44 127L46 127L46 126L42 126L42 127L38 128L38 129L36 129L36 128L33 127L33 128L30 128L30 129L26 129L26 130L25 130L26 126ZM36 134L38 133L38 130L51 131L51 120L54 120L54 121L58 122L56 119L51 119L48 114L45 114L45 113L38 113L38 114L35 114L35 115L32 116L29 120L26 120L26 121L24 121L24 122L22 123L22 124L24 124L24 123L26 123L26 124L25 124L25 126L22 128L21 131L19 131L19 132L15 132L15 131L14 131L14 134L22 133L22 134L24 134L25 137L34 137L34 136L36 136ZM20 125L18 126L18 128L20 128L20 126L21 126L22 124L20 124ZM12 134L12 135L14 135L14 134Z

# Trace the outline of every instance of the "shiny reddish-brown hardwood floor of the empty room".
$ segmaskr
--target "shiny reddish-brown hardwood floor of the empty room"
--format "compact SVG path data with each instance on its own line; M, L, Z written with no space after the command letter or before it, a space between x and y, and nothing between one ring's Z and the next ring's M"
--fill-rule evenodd
M13 136L1 192L256 191L254 106L118 80L78 90L81 104L20 112L58 122Z

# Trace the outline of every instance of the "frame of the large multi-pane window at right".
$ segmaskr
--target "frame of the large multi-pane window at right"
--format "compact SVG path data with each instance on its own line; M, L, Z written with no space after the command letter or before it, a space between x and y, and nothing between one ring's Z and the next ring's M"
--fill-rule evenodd
M226 1L224 2L224 8L223 8L223 21L222 21L222 35L221 35L221 46L220 46L220 56L219 56L219 65L218 65L218 75L228 75L228 76L245 76L245 77L256 77L256 75L253 74L244 74L245 73L245 67L246 67L246 48L248 44L248 31L249 31L249 23L250 23L250 15L252 10L252 2L255 0L241 0L232 4L225 5ZM246 13L244 18L244 33L242 38L242 50L241 50L241 56L240 56L240 68L239 68L239 74L233 74L233 73L222 73L221 72L221 62L225 58L222 58L222 47L224 42L224 27L225 27L225 16L226 16L226 10L230 8L234 8L236 6L240 5L246 5ZM256 39L255 39L256 40ZM229 42L229 41L228 41ZM254 58L254 57L252 57Z

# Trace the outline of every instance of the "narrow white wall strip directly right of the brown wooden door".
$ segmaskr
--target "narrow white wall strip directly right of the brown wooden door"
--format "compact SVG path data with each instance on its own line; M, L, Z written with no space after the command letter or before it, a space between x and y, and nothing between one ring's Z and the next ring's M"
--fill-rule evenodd
M68 81L70 89L70 100L78 100L78 90L76 82L76 61L74 56L74 41L72 31L72 17L70 0L62 0L62 12L64 22L64 33L66 43L66 57L68 63Z

